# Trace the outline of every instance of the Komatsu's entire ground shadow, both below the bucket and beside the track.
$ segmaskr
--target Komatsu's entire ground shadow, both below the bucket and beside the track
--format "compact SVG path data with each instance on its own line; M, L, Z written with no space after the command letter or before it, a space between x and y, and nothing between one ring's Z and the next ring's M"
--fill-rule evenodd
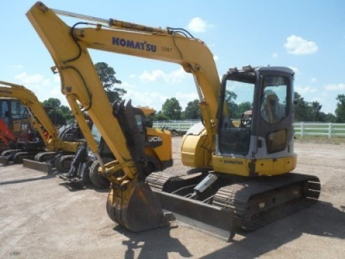
M304 233L345 239L344 226L345 209L339 210L328 202L317 202L303 211L293 213L256 231L239 233L243 239L230 242L223 249L202 258L259 258L300 238ZM114 228L129 238L123 241L127 246L126 259L168 258L168 253L172 252L181 258L195 258L184 244L170 236L170 229L171 227L155 229L152 230L155 231L152 235L152 231L132 233L119 225ZM139 255L137 249L140 249Z

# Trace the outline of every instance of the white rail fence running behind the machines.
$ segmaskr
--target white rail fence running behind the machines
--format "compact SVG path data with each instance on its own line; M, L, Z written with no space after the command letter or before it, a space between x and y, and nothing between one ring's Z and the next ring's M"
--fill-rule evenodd
M199 120L194 121L155 121L153 126L155 128L168 127L175 129L179 132L186 132L194 124L198 123ZM306 135L319 135L331 137L345 137L345 124L340 123L327 123L327 122L295 122L295 135L304 137Z

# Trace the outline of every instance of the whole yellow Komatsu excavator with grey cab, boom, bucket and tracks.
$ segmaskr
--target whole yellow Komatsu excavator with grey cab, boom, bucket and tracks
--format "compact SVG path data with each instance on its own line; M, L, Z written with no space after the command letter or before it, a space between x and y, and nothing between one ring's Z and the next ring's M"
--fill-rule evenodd
M83 21L70 27L58 15ZM82 111L88 111L115 154L116 160L99 170L112 182L106 207L115 222L131 231L165 226L169 218L163 208L230 239L235 227L256 229L319 197L317 177L290 173L297 163L290 68L230 68L220 81L210 50L183 29L77 15L41 2L27 17L55 61L53 70L79 125L86 128ZM143 148L131 128L130 107L106 104L88 48L180 64L193 75L202 123L190 128L181 146L181 160L193 170L172 166L145 183L138 180ZM235 90L249 110L237 122ZM97 144L90 133L85 136L97 155ZM119 169L124 175L116 177Z

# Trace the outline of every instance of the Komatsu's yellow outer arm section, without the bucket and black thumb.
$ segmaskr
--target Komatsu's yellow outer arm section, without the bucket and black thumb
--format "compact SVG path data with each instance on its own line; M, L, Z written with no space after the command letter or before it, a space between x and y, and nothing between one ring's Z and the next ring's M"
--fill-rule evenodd
M72 29L43 3L36 3L27 15L55 61L55 68L61 77L61 91L66 95L90 150L101 160L97 155L98 144L83 116L84 111L88 112L110 150L117 157L117 165L120 166L116 166L113 171L122 168L128 178L134 178L136 166L132 163L124 133L112 113L112 106L103 90L86 44L79 43L75 37L71 37Z

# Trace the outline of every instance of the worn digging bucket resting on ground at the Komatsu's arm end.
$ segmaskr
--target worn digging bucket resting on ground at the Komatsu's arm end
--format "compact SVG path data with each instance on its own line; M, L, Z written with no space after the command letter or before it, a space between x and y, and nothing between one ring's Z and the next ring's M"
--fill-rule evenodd
M144 182L135 183L127 193L112 186L106 208L113 221L134 232L165 227L175 220L170 213L163 213L155 194Z

